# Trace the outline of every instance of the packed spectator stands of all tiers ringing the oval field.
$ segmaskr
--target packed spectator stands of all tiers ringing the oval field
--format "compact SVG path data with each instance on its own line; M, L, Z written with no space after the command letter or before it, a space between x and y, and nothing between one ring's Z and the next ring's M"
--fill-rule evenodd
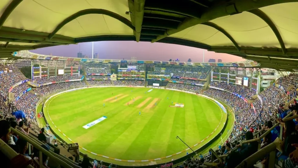
M86 67L91 67L86 70L86 73L110 73L110 68L104 66L104 64L96 65L94 63L86 64ZM109 66L108 66L109 67ZM178 66L177 66L178 67ZM176 76L195 78L195 79L205 79L210 69L208 68L198 68L198 67L166 67L164 70L163 66L155 66L153 72L149 74L173 74ZM143 67L144 68L144 67ZM86 87L84 81L76 82L62 82L50 85L45 85L41 87L33 88L31 91L21 95L24 90L30 88L26 83L17 85L15 88L12 86L15 83L26 80L27 78L14 66L14 65L0 65L0 122L5 124L4 120L14 121L14 117L11 115L12 112L16 110L22 110L26 114L24 120L24 125L29 127L32 133L38 134L40 128L38 127L36 115L36 106L43 98L48 95L65 91L71 88ZM105 72L104 72L105 71ZM191 72L191 73L187 73ZM197 72L197 73L194 73ZM103 79L103 76L94 76L96 79ZM66 81L71 79L80 79L78 76L58 76L53 78L36 78L35 83L44 84L52 81ZM298 143L298 132L295 123L297 124L297 106L296 101L294 103L293 99L297 98L297 88L298 88L298 75L290 74L289 76L279 78L273 85L266 88L263 92L258 94L258 97L252 102L252 104L246 103L242 98L237 97L231 92L242 95L247 100L252 100L253 95L256 94L255 91L242 87L239 85L227 85L226 83L211 82L210 86L221 88L209 88L204 91L203 86L190 85L186 83L198 83L204 84L205 81L201 80L189 80L189 79L176 79L176 81L183 83L168 83L167 88L173 88L184 91L191 91L195 93L203 93L209 97L213 97L226 103L235 112L235 123L231 131L231 134L226 139L226 142L220 143L221 147L215 147L210 149L210 152L202 156L195 156L194 158L189 158L179 167L241 167L246 165L247 167L253 167L257 161L261 161L259 166L272 167L295 167L297 163L291 162L289 155L291 152L296 151L296 148L291 147L292 143ZM194 82L195 81L195 82ZM144 80L88 80L89 85L97 86L108 86L108 85L128 85L128 86L145 86ZM7 101L8 91L14 94L13 101ZM204 91L204 92L203 92ZM20 96L21 95L21 96ZM19 97L18 100L16 100ZM288 106L288 104L290 106ZM254 107L254 108L252 108ZM286 110L288 109L289 110ZM277 117L276 116L280 116ZM12 118L12 119L11 119ZM294 121L293 121L294 119ZM2 125L1 125L2 126ZM280 134L283 127L286 126L285 134ZM1 127L2 129L4 127ZM37 151L41 151L44 155L37 155L32 158L31 167L38 167L39 164L45 164L42 162L43 158L50 157L53 158L57 163L63 165L63 167L77 167L78 163L75 163L61 155L57 155L53 152L53 148L50 147L49 150L44 149L44 143L32 137L32 135L25 135L18 129L11 128L15 135L20 138L24 138L31 145L36 148ZM296 136L297 135L297 136ZM283 159L276 158L276 148L279 148L276 143L272 143L274 139L272 137L284 139L284 143L288 143L291 148L285 148L281 146L280 148L284 151L281 156ZM264 138L264 139L263 139ZM263 141L261 141L263 139ZM11 142L10 142L11 143ZM16 159L17 153L15 152L14 146L9 146L8 141L0 141L1 153L7 156L6 159L13 160ZM239 146L237 146L240 143ZM11 145L11 144L10 144ZM247 150L243 149L248 149ZM39 152L37 152L39 154ZM251 157L249 157L251 156ZM21 157L21 156L18 156ZM215 159L214 159L215 158ZM41 162L39 161L41 160ZM277 162L279 160L279 162ZM3 162L4 163L4 162ZM239 164L239 165L238 165ZM30 166L29 166L30 167Z

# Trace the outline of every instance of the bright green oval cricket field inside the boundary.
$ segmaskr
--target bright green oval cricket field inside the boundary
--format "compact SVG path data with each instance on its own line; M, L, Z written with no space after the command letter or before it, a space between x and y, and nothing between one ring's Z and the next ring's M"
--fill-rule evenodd
M167 162L181 158L191 151L185 151L187 146L176 136L195 150L224 127L227 114L212 100L179 91L149 90L109 87L67 92L47 101L44 115L54 132L66 142L71 143L71 139L87 149L80 151L91 158L114 163L115 158L121 162L152 159L158 162L154 161L156 158ZM171 107L175 103L184 107ZM92 124L100 118L103 120ZM165 158L169 155L173 156Z

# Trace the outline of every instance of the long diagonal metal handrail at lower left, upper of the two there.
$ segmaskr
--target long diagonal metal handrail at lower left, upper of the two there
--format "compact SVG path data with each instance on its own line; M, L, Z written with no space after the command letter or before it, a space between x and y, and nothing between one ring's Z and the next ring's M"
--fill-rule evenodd
M68 163L66 163L65 161L63 161L63 159L58 158L59 155L57 154L52 154L51 151L47 151L46 149L44 149L43 147L41 147L37 142L35 142L35 140L32 140L31 138L28 138L27 135L25 135L23 132L18 131L14 128L11 128L11 130L16 133L19 137L24 138L25 140L27 140L30 144L32 144L35 148L37 148L39 151L41 151L42 153L44 153L45 155L49 156L50 158L53 158L53 160L55 162L57 162L58 164L60 164L61 166L65 167L65 168L81 168L77 165L74 165L72 163L70 163L69 161L66 161Z

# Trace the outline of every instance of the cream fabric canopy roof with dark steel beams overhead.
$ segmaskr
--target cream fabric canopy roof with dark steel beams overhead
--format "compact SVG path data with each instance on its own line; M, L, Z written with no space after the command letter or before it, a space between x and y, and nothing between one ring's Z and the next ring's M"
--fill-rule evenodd
M293 71L298 69L297 8L297 0L4 0L1 57L80 42L147 41L204 48Z

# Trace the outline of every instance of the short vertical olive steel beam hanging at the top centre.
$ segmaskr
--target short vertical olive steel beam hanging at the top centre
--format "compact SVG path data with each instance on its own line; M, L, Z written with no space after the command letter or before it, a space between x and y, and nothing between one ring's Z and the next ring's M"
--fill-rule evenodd
M136 31L136 42L140 41L141 31L142 31L142 23L144 17L144 5L145 0L134 0L134 26Z

